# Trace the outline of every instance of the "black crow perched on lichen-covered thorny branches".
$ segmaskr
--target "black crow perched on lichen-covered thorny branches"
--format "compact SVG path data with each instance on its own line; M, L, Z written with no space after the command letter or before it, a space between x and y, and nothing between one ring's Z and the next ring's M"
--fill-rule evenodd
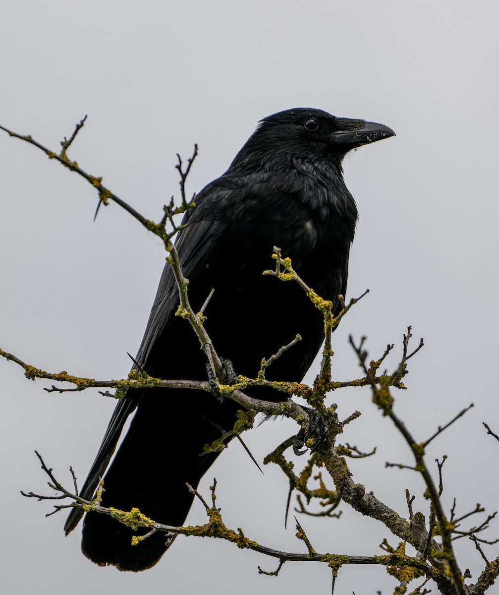
M263 357L300 334L302 340L272 363L266 378L300 382L305 376L324 340L322 315L298 284L262 272L272 268L273 248L279 246L307 285L331 300L335 314L340 311L338 296L346 295L358 217L342 162L352 149L394 134L383 124L321 109L287 109L263 118L228 170L195 196L175 246L194 311L214 290L204 325L236 374L255 377ZM167 263L136 362L156 378L202 380L206 358L189 323L175 316L178 305ZM269 387L246 391L274 402L287 398ZM221 430L233 428L238 409L230 398L199 390L129 389L118 401L80 496L91 499L103 477L103 506L136 507L156 522L182 526L193 500L186 483L196 488L219 454L200 456L203 447L219 439ZM66 535L83 514L71 510ZM132 546L135 534L110 516L90 511L81 550L98 565L142 571L172 543L158 532Z

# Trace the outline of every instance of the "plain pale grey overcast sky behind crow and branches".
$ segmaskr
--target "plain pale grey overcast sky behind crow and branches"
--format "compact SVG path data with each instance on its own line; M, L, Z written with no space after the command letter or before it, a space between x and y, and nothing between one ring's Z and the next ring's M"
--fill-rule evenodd
M447 509L456 496L459 514L476 502L492 512L499 444L481 424L499 430L498 12L492 2L455 0L4 2L0 123L58 151L88 114L70 157L156 219L177 193L175 152L187 158L194 142L190 192L223 173L258 120L281 109L317 107L392 127L396 138L363 147L344 164L360 211L348 297L371 293L334 335L334 375L359 374L350 333L368 336L375 358L395 342L391 368L412 324L414 345L425 337L425 347L410 365L409 390L396 395L397 411L422 441L475 402L432 443L428 461L449 457ZM93 223L93 189L32 146L2 134L0 159L0 347L49 371L123 377L164 250L118 206L101 209ZM63 513L46 519L50 503L23 499L19 490L47 491L34 449L59 481L70 485L72 465L81 483L115 403L97 391L45 393L49 383L24 379L7 361L0 377L7 590L329 593L325 566L287 563L278 578L265 577L257 566L273 570L274 560L208 539L179 537L155 568L137 575L92 565L80 553L79 531L64 538ZM354 481L404 516L408 487L427 516L415 473L384 468L412 457L369 393L344 389L333 401L340 418L363 413L344 441L378 446L374 458L352 462ZM156 419L152 428L165 433L165 449L181 449L168 441L169 423ZM261 461L295 431L276 421L245 439ZM275 549L304 549L293 523L284 530L287 482L277 467L262 476L231 443L200 484L205 496L213 477L228 526ZM382 525L341 509L340 520L300 518L316 550L381 554L384 537L397 545ZM194 503L188 521L204 519ZM499 536L497 524L488 535ZM489 559L499 555L499 544L486 547ZM473 544L461 540L457 551L476 578L482 559ZM383 568L344 567L335 593L385 595L395 586Z

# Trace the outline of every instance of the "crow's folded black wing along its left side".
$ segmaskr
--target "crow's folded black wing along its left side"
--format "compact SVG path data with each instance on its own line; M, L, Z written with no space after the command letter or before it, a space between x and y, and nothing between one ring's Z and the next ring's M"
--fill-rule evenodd
M180 264L185 277L195 278L198 271L209 261L219 237L227 227L227 217L222 217L227 202L234 190L233 184L227 180L215 180L196 196L196 207L189 209L183 222L187 225L175 243L180 258ZM165 265L158 291L147 322L146 331L137 353L137 362L147 371L147 358L154 346L156 338L165 332L177 310L179 303L178 289L170 265ZM80 490L80 496L92 499L99 478L109 465L114 453L121 430L128 416L137 407L143 396L143 390L130 390L127 396L118 401L103 437L99 452L90 468L89 474ZM74 508L64 525L67 535L76 527L83 510Z

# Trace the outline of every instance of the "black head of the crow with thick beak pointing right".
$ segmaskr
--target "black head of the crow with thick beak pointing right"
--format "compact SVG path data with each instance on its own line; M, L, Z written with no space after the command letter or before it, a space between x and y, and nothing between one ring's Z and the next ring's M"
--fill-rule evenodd
M294 108L263 118L231 168L293 167L299 161L341 164L347 152L395 136L388 126L338 118L322 109Z

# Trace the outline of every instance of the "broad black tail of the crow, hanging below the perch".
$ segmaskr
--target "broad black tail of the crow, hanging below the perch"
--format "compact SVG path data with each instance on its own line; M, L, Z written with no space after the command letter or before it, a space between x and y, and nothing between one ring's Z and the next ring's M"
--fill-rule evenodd
M203 411L209 397L190 391L182 396L180 405L174 400L178 392L156 389L154 396L141 400L104 477L103 506L125 512L137 508L155 522L174 527L184 524L193 500L186 483L196 488L218 456L218 452L200 455L205 444L220 437L220 431L207 418L210 412ZM233 423L231 419L235 421L237 407L226 399L221 409L230 429L232 425L228 424ZM81 550L101 566L145 570L158 562L174 538L158 531L140 540L149 531L135 531L111 516L89 512L83 522ZM132 545L134 536L139 540Z

